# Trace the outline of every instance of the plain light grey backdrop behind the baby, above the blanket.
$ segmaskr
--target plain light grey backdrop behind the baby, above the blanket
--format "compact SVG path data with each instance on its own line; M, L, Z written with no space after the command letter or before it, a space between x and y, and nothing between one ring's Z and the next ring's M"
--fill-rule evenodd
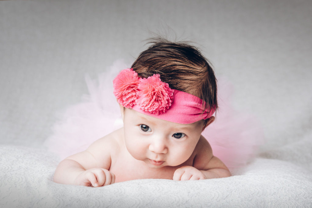
M196 42L255 114L265 149L312 129L312 1L53 0L0 2L0 143L41 147L56 113L150 32Z

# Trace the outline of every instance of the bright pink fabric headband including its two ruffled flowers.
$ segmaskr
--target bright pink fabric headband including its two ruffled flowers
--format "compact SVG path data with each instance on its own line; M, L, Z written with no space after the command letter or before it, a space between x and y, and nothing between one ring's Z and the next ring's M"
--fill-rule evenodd
M203 111L202 99L176 89L160 80L159 74L140 78L132 69L122 70L113 80L119 104L142 114L174 123L194 123L214 113Z

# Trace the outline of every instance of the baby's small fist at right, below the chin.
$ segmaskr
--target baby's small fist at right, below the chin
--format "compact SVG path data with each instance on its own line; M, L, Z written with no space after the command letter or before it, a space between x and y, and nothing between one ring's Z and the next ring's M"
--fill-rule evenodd
M202 180L206 179L205 175L198 169L192 166L182 166L178 168L173 174L175 181L188 181L188 180Z

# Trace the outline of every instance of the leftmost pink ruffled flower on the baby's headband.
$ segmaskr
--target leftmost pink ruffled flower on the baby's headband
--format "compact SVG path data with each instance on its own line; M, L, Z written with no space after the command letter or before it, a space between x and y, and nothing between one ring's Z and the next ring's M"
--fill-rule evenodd
M113 80L114 94L119 104L131 108L137 99L138 74L133 69L122 70Z

